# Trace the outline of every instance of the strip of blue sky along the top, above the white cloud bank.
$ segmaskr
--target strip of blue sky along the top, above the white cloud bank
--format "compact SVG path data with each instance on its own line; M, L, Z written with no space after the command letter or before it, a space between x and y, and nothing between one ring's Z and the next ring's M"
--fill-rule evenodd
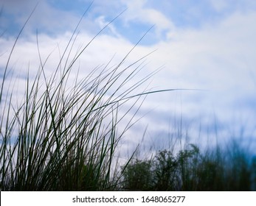
M74 22L83 15L92 1L2 0L1 29L7 29L8 34L18 32L19 26L24 23L37 2L39 4L33 17L33 28L35 29L36 25L36 29L41 32L58 34L73 29ZM86 26L86 31L97 31L100 24L111 21L126 9L127 11L112 24L118 28L116 32L136 42L139 34L145 33L148 28L155 25L154 33L148 35L146 43L156 43L165 40L167 32L172 29L200 29L205 25L218 24L234 13L253 13L256 4L252 0L93 1L85 19L89 24ZM97 24L93 24L95 21Z

